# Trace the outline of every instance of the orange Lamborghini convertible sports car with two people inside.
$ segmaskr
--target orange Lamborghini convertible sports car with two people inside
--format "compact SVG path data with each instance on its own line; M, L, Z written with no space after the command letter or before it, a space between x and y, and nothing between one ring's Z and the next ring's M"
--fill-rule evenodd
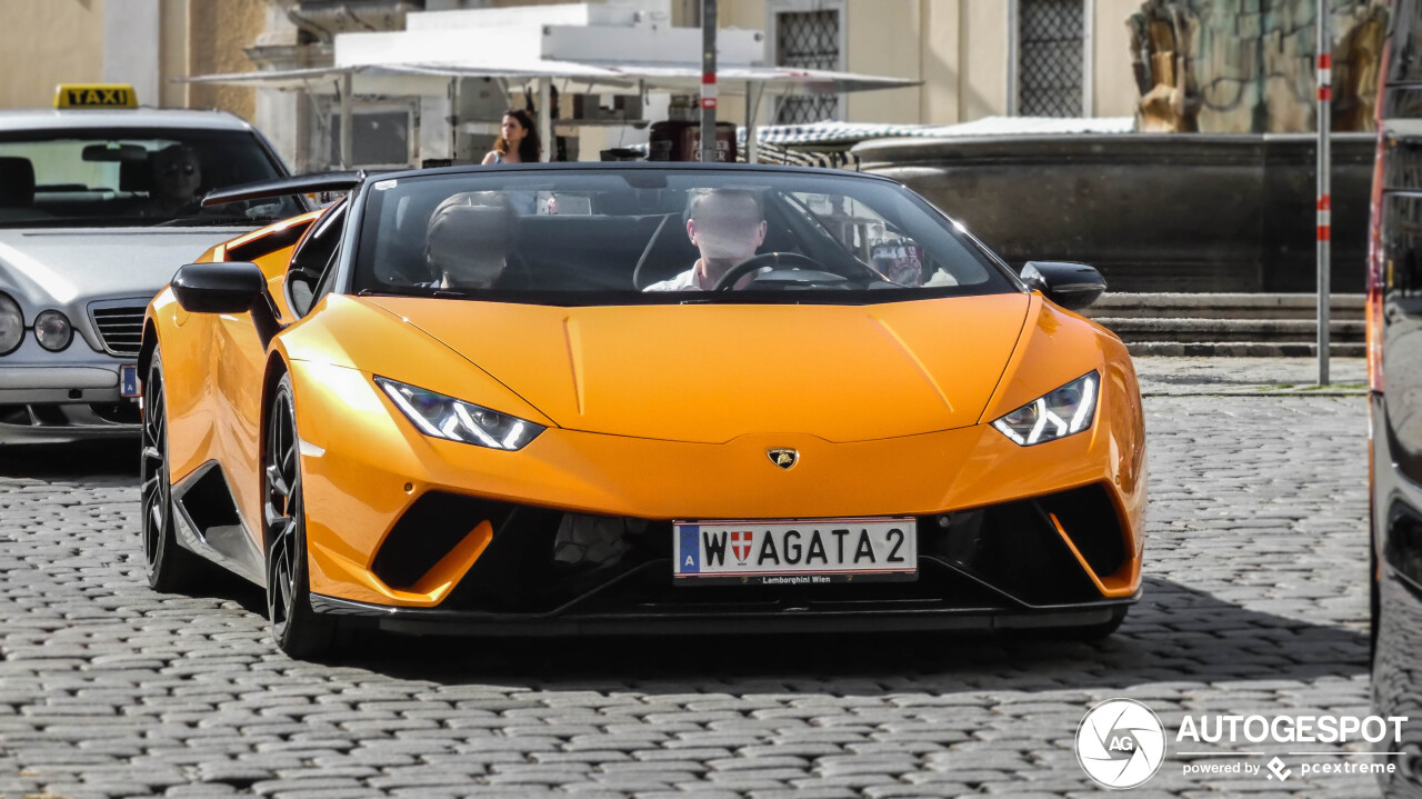
M1126 348L902 185L688 163L223 191L343 200L148 307L142 542L341 633L1115 630L1140 587Z

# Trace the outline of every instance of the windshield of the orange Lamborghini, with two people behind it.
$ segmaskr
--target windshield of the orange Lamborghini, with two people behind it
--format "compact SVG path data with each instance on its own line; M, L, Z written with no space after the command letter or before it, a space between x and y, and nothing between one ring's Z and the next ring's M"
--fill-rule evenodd
M539 304L879 303L1015 291L880 179L775 169L502 169L375 181L354 293Z

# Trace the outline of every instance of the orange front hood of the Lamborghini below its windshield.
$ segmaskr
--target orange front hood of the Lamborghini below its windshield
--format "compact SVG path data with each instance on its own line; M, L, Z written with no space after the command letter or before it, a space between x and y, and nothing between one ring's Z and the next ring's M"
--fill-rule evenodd
M1030 299L620 307L368 301L454 348L563 428L694 442L791 432L843 442L977 424Z

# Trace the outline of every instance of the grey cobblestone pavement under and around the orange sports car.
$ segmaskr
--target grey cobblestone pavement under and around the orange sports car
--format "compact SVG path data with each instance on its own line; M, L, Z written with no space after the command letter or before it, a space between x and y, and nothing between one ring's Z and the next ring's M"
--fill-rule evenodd
M1072 739L1105 698L1167 732L1367 712L1364 398L1146 409L1145 599L1098 644L381 637L294 663L255 590L146 589L132 448L0 451L0 795L1078 796ZM1283 783L1186 762L1128 795L1376 795L1301 758Z

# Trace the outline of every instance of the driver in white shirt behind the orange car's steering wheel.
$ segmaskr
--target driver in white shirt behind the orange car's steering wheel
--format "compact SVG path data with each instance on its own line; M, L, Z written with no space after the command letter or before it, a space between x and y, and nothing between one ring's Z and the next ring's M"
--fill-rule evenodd
M687 237L701 252L691 269L653 283L644 291L710 291L732 266L755 254L765 242L765 212L751 189L697 189L687 202ZM742 287L755 280L747 274Z

